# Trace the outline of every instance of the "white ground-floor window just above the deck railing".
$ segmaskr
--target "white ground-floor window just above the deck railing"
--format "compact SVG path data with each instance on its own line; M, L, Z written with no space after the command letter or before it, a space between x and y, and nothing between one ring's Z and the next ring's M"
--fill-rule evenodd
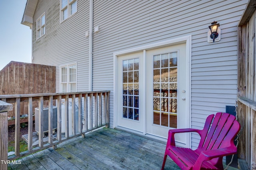
M60 92L76 92L76 64L60 67Z

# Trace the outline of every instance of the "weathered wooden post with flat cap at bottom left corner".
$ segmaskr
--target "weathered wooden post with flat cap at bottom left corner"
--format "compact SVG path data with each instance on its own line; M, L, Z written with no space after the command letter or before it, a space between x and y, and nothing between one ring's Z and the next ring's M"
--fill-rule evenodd
M8 158L8 112L12 104L0 100L0 170L7 170Z

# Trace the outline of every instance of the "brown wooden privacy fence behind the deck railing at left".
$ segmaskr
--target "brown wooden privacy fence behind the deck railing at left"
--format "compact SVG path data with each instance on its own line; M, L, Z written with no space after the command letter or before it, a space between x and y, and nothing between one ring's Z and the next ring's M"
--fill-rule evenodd
M0 71L0 95L55 93L55 73L55 66L11 61ZM14 117L13 106L13 111L8 112L9 117ZM36 102L33 109L35 107L38 107ZM22 103L20 111L20 115L28 114L28 104Z

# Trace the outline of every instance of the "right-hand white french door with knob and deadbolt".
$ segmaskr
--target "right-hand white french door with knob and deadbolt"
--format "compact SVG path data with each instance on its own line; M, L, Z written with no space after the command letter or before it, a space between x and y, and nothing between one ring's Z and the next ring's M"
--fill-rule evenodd
M146 131L167 138L169 129L187 128L186 43L147 51ZM175 135L185 145L187 134Z

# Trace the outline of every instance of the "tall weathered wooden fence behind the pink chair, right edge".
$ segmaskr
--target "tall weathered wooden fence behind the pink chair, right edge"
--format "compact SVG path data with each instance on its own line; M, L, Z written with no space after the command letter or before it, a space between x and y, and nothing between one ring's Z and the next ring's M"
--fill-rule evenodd
M256 169L256 1L249 0L238 25L238 157ZM241 167L242 168L242 167ZM242 168L243 169L243 168Z

